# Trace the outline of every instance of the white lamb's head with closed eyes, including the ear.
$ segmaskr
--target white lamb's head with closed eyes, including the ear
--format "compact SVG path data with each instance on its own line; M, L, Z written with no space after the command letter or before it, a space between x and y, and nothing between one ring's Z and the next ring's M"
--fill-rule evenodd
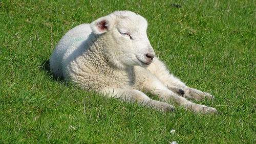
M106 55L116 67L153 62L154 50L147 38L147 21L130 11L116 11L91 23L94 34L103 37Z

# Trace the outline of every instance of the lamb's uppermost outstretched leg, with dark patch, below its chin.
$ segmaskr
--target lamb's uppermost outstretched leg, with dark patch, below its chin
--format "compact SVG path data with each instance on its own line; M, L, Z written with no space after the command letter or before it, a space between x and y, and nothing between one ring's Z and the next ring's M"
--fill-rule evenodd
M146 69L155 75L168 89L181 94L185 98L195 100L215 99L213 95L207 92L186 86L180 79L170 74L164 63L158 58L154 58L154 62Z

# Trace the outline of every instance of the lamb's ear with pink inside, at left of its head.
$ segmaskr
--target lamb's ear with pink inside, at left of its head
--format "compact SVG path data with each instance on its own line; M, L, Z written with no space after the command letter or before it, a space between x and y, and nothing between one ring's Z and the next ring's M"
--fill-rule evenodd
M103 34L113 28L114 20L110 16L101 17L90 24L95 34Z

